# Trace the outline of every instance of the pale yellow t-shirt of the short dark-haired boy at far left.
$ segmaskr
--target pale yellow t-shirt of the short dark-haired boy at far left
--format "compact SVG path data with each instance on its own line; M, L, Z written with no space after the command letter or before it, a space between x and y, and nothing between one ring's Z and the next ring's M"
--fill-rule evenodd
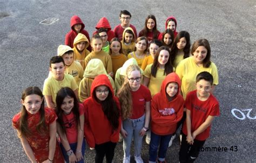
M65 86L70 87L73 91L78 89L75 79L70 74L65 73L62 81L58 81L51 76L44 80L43 94L51 96L52 102L56 105L57 93Z

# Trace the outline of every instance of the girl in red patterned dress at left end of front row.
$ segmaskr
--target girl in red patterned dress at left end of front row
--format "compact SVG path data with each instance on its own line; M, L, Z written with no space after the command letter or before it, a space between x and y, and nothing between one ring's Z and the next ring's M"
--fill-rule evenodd
M57 116L44 107L42 91L28 87L22 92L21 103L21 112L12 119L12 126L31 162L64 162L56 140Z

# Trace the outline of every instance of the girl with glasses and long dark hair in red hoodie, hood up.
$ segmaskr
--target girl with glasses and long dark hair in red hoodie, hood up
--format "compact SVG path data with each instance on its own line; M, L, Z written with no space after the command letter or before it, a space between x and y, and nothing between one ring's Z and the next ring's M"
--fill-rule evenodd
M112 162L122 123L119 100L105 74L92 81L91 97L83 105L84 135L89 147L95 148L95 162L103 162L105 156L106 162Z

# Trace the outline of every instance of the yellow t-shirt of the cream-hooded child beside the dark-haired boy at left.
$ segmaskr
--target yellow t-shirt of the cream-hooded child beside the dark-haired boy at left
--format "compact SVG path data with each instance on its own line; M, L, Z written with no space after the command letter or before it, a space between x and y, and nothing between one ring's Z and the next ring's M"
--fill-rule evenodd
M83 79L84 69L79 62L74 61L70 66L66 66L65 73L71 74L79 86L80 81Z

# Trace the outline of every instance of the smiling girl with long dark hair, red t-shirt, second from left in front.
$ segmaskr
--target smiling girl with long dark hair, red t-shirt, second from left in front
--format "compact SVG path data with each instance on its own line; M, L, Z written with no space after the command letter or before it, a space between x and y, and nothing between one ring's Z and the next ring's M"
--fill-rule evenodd
M56 97L57 132L66 162L84 162L84 106L69 87L62 87Z

